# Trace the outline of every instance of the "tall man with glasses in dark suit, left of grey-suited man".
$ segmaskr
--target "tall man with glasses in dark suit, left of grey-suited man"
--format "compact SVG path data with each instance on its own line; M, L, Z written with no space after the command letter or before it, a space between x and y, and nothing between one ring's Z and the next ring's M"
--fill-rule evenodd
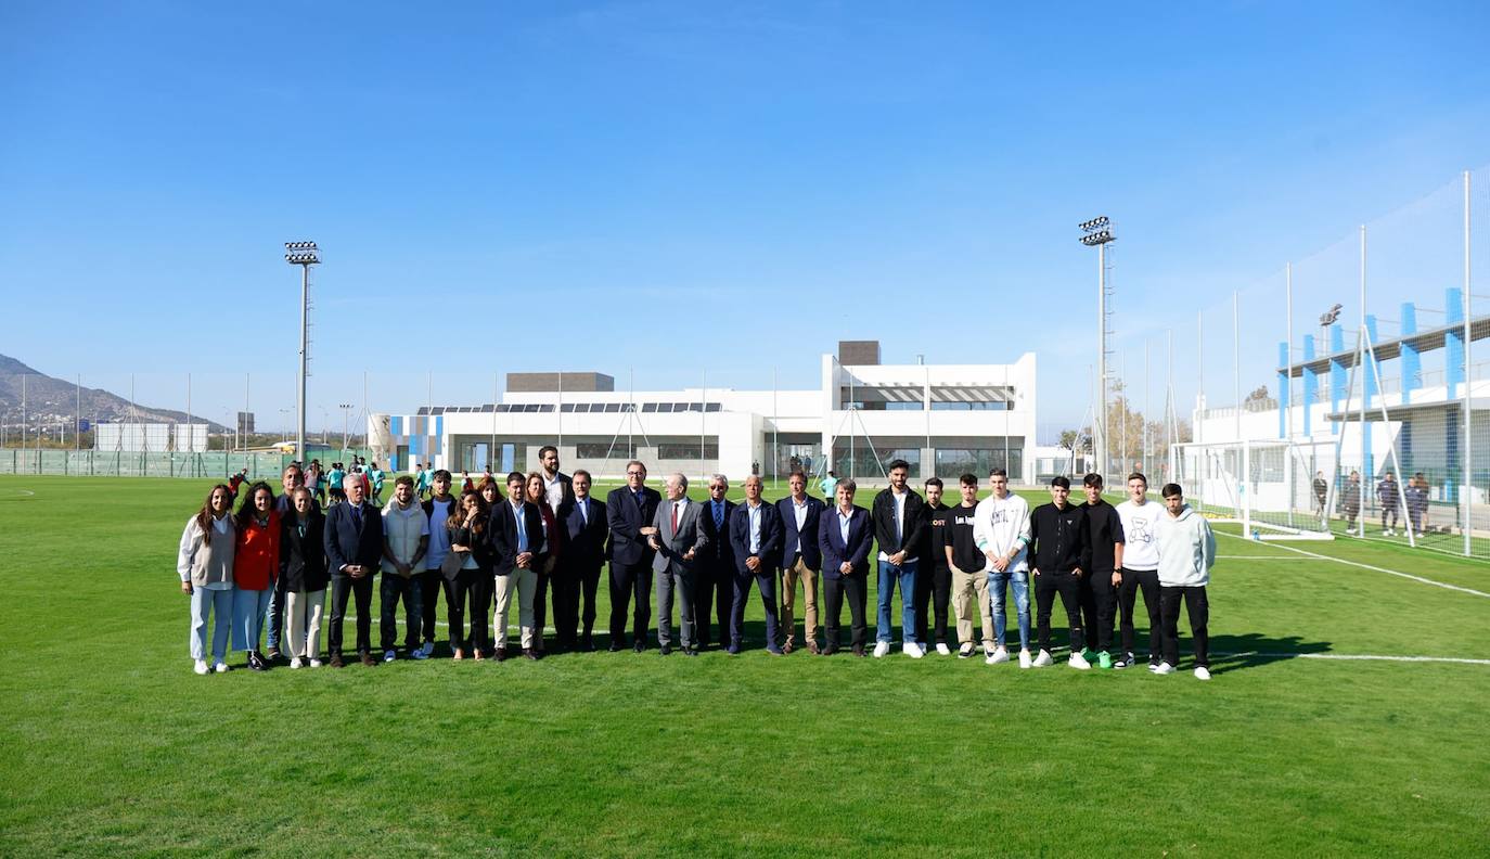
M626 464L626 486L611 489L605 517L611 525L611 652L626 646L626 608L632 598L636 610L632 623L633 649L647 649L651 622L653 549L642 528L651 528L662 495L647 486L647 467L632 459Z

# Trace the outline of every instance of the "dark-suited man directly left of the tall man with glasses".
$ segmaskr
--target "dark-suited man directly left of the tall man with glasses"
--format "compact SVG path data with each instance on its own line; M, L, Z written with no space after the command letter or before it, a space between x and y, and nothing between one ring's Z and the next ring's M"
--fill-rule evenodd
M590 473L574 473L574 497L559 507L559 528L565 532L563 558L554 571L554 622L559 628L559 644L575 647L575 631L580 625L580 598L584 598L584 635L581 650L595 650L595 591L600 583L600 565L608 553L606 540L611 535L605 520L605 501L590 498ZM560 592L565 594L560 602Z

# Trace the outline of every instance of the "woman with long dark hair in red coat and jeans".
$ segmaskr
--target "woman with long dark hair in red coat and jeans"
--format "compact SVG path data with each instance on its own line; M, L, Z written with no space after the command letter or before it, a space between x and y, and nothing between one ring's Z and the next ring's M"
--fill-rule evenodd
M262 480L249 488L237 516L232 553L232 649L247 653L249 668L264 671L259 655L264 614L279 577L280 520L274 491Z

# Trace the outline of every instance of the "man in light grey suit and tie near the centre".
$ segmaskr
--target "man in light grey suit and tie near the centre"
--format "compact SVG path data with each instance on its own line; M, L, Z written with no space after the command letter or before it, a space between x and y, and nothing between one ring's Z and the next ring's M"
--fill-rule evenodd
M668 497L657 506L653 526L644 529L647 543L657 550L653 558L653 573L657 573L657 646L662 655L672 653L672 602L681 602L682 652L697 656L699 646L693 635L693 576L694 559L709 543L709 535L699 523L703 504L688 501L688 479L682 474L668 477Z

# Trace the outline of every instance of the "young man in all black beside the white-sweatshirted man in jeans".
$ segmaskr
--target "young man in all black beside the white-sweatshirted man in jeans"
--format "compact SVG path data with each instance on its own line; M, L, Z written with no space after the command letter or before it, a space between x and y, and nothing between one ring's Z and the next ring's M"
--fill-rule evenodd
M1071 656L1067 664L1085 671L1092 667L1080 653L1086 643L1082 632L1080 577L1082 559L1088 550L1088 528L1085 510L1067 503L1070 494L1071 482L1055 477L1050 480L1050 503L1030 513L1030 574L1034 577L1036 626L1040 637L1040 655L1034 665L1043 668L1050 664L1050 608L1059 594L1071 625Z

